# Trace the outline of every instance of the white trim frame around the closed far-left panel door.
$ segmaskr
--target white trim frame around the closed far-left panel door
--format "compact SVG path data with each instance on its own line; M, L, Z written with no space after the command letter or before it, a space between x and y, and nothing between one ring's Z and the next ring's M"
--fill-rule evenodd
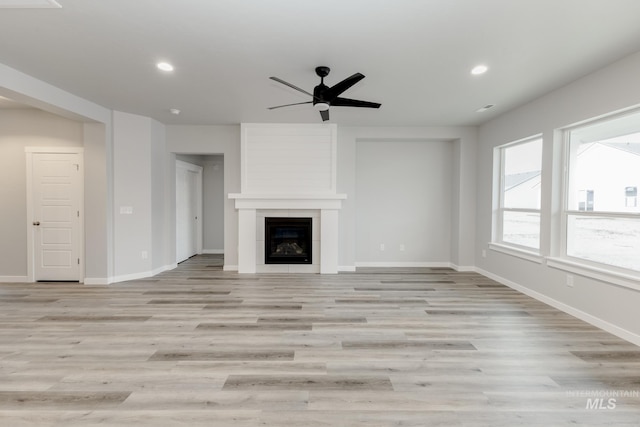
M25 147L27 162L27 281L37 280L35 273L35 244L33 228L33 155L34 154L78 154L79 155L79 179L80 189L78 194L78 207L80 209L80 224L78 225L78 237L75 244L78 245L80 255L80 268L78 269L78 282L84 282L84 148L83 147Z

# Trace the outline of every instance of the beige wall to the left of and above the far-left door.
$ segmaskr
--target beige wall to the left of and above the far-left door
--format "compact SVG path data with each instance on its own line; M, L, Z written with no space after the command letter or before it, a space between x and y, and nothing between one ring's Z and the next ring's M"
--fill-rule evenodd
M82 144L82 123L36 109L0 110L0 277L27 276L24 148Z

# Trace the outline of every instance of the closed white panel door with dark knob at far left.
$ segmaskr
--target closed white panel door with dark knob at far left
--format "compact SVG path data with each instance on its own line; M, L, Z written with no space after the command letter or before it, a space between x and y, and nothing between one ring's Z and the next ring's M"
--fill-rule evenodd
M35 281L79 281L82 157L32 153L31 238Z

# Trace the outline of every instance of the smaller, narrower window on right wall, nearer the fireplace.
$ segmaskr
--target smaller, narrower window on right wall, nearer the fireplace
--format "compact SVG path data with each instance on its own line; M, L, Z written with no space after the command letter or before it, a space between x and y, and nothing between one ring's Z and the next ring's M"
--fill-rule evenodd
M503 145L495 240L526 250L540 249L542 138Z

